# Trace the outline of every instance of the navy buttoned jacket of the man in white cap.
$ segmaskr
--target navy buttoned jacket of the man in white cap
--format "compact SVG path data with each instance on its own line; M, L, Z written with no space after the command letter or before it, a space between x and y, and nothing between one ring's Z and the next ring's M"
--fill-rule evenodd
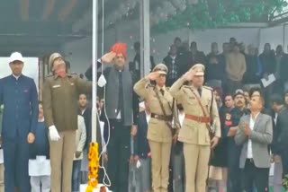
M34 81L25 75L18 80L9 75L0 80L0 106L4 104L4 138L14 139L35 133L38 124L38 93Z

